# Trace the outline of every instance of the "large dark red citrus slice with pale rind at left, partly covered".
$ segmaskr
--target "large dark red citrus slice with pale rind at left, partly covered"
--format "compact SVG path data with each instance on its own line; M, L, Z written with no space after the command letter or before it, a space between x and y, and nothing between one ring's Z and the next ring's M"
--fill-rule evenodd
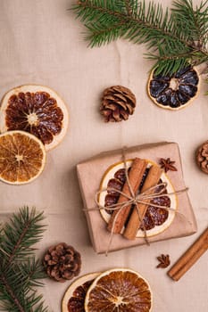
M2 100L0 131L27 131L36 135L48 151L62 141L68 119L66 106L54 90L47 86L17 86Z

